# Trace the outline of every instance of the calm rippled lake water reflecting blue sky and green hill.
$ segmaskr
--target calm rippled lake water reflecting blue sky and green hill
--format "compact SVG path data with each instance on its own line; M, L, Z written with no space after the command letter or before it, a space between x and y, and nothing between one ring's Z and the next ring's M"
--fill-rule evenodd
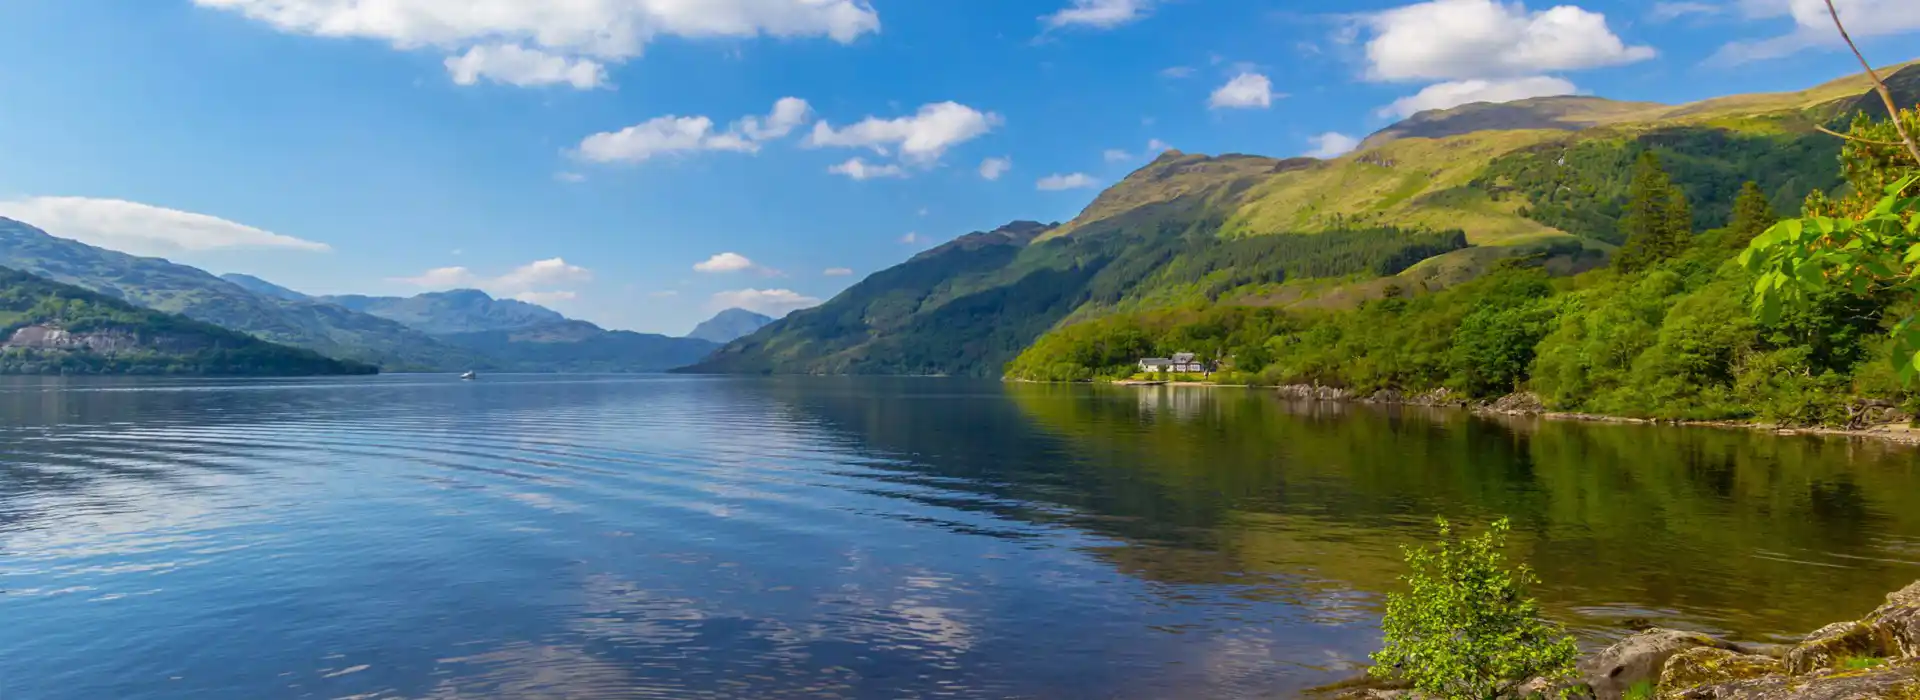
M1269 698L1515 518L1586 641L1920 577L1914 451L948 380L0 382L0 698Z

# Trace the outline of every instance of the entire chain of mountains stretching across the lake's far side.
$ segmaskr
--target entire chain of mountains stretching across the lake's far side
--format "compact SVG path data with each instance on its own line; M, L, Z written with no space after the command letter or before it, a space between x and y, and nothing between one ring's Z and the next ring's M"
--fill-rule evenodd
M1920 65L1887 73L1897 100L1920 100ZM998 376L1048 330L1117 313L1354 307L1515 257L1590 268L1620 244L1644 152L1688 194L1695 230L1722 226L1747 180L1793 211L1811 190L1839 186L1839 144L1816 127L1876 109L1868 81L1849 77L1688 105L1473 104L1413 115L1336 159L1165 152L1073 221L966 234L822 307L772 322L726 311L695 338L611 332L474 290L311 297L10 219L0 267L386 370Z

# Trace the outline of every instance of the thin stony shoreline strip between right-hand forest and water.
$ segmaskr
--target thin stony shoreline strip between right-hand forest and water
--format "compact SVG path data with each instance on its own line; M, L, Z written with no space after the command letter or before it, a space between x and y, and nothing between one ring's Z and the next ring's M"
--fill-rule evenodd
M1081 382L1029 382L1029 380L1010 380L1023 384L1081 384ZM1857 437L1857 439L1876 439L1895 445L1920 447L1920 428L1912 424L1912 418L1901 414L1891 407L1876 407L1882 412L1882 420L1868 420L1866 428L1830 428L1830 426L1784 426L1768 424L1761 420L1665 420L1665 418L1632 418L1632 416L1609 416L1592 412L1572 412L1572 410L1549 410L1532 393L1509 393L1494 401L1473 401L1453 397L1448 389L1434 389L1425 393L1407 395L1402 391L1386 389L1375 391L1371 395L1356 395L1350 389L1311 385L1311 384L1283 384L1283 385L1252 385L1252 384L1213 384L1213 382L1158 382L1158 380L1121 380L1121 382L1091 382L1091 384L1110 384L1125 387L1225 387L1225 389L1265 389L1275 391L1283 399L1292 401L1321 401L1321 403L1357 403L1357 405L1379 405L1379 407L1427 407L1427 408L1459 408L1478 416L1507 416L1507 418L1542 418L1542 420L1567 420L1567 422L1597 422L1597 424L1640 424L1640 426L1678 426L1678 428L1720 428L1720 430L1751 430L1768 432L1774 435L1828 435L1828 437ZM1895 420L1897 418L1897 420Z

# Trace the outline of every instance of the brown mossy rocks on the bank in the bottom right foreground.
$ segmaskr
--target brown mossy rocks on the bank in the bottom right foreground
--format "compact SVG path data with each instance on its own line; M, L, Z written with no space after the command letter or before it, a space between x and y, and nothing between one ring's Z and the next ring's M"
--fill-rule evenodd
M1365 681L1313 692L1340 700L1425 700ZM1647 629L1578 664L1572 681L1534 679L1513 698L1920 700L1920 581L1866 618L1753 648L1678 629Z

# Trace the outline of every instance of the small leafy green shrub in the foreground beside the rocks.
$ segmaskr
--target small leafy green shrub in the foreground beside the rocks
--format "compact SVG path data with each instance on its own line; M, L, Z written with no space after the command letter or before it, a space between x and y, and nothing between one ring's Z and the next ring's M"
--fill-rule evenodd
M1459 700L1496 698L1532 677L1572 675L1572 637L1540 618L1526 596L1534 573L1507 570L1501 550L1505 518L1480 537L1453 537L1438 520L1440 541L1405 548L1411 591L1386 596L1386 646L1373 654L1373 675L1404 677L1413 687Z

